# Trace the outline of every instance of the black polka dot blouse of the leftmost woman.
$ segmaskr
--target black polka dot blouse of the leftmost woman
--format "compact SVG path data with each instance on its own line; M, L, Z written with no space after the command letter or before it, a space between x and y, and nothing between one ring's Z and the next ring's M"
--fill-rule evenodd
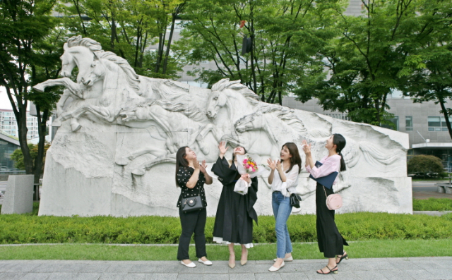
M203 206L207 206L206 193L204 192L204 183L206 183L206 177L202 172L199 172L198 181L194 188L187 188L186 183L190 180L191 175L195 169L191 167L179 166L179 171L177 171L177 183L181 187L181 195L179 200L177 200L177 207L181 207L182 198L193 197L201 195L201 200L203 201Z

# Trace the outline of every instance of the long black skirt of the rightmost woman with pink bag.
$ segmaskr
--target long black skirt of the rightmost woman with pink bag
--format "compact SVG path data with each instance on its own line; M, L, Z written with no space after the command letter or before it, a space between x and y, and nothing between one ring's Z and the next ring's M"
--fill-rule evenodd
M319 250L323 252L324 257L335 257L343 255L344 245L347 241L340 235L338 227L334 221L334 210L328 210L326 207L326 195L333 194L333 188L324 188L317 183L316 188L316 209L317 209L317 242Z

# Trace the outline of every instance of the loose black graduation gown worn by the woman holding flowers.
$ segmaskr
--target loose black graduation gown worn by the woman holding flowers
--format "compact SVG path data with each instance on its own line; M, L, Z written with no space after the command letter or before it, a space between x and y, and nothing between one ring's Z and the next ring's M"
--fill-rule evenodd
M223 184L218 202L213 237L223 242L250 244L253 242L253 220L257 224L257 214L253 206L257 200L257 178L251 178L251 186L246 195L234 192L234 185L240 178L236 166L229 166L225 157L212 166L212 171Z

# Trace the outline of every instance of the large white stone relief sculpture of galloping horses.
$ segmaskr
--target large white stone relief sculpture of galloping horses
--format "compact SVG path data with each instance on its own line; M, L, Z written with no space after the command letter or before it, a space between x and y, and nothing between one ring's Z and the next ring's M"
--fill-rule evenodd
M306 139L320 159L333 133L347 140L347 171L335 189L343 195L340 211L411 212L404 133L266 104L239 80L222 79L209 90L143 77L125 59L81 36L64 44L61 63L62 78L34 87L66 87L52 123L59 129L47 151L40 215L176 216L179 147L191 147L212 166L222 140L278 159L285 142ZM307 176L299 174L297 191L301 212L313 213L315 183ZM215 214L220 192L217 180L206 188L208 215ZM272 214L270 197L268 188L259 188L258 214Z

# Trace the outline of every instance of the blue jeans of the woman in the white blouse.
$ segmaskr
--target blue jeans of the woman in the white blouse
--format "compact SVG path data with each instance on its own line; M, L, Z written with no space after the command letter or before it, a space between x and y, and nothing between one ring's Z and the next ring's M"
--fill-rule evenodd
M276 220L276 257L284 259L285 254L292 252L292 243L290 243L289 231L287 230L287 219L292 212L290 197L285 197L281 192L273 192L271 206Z

